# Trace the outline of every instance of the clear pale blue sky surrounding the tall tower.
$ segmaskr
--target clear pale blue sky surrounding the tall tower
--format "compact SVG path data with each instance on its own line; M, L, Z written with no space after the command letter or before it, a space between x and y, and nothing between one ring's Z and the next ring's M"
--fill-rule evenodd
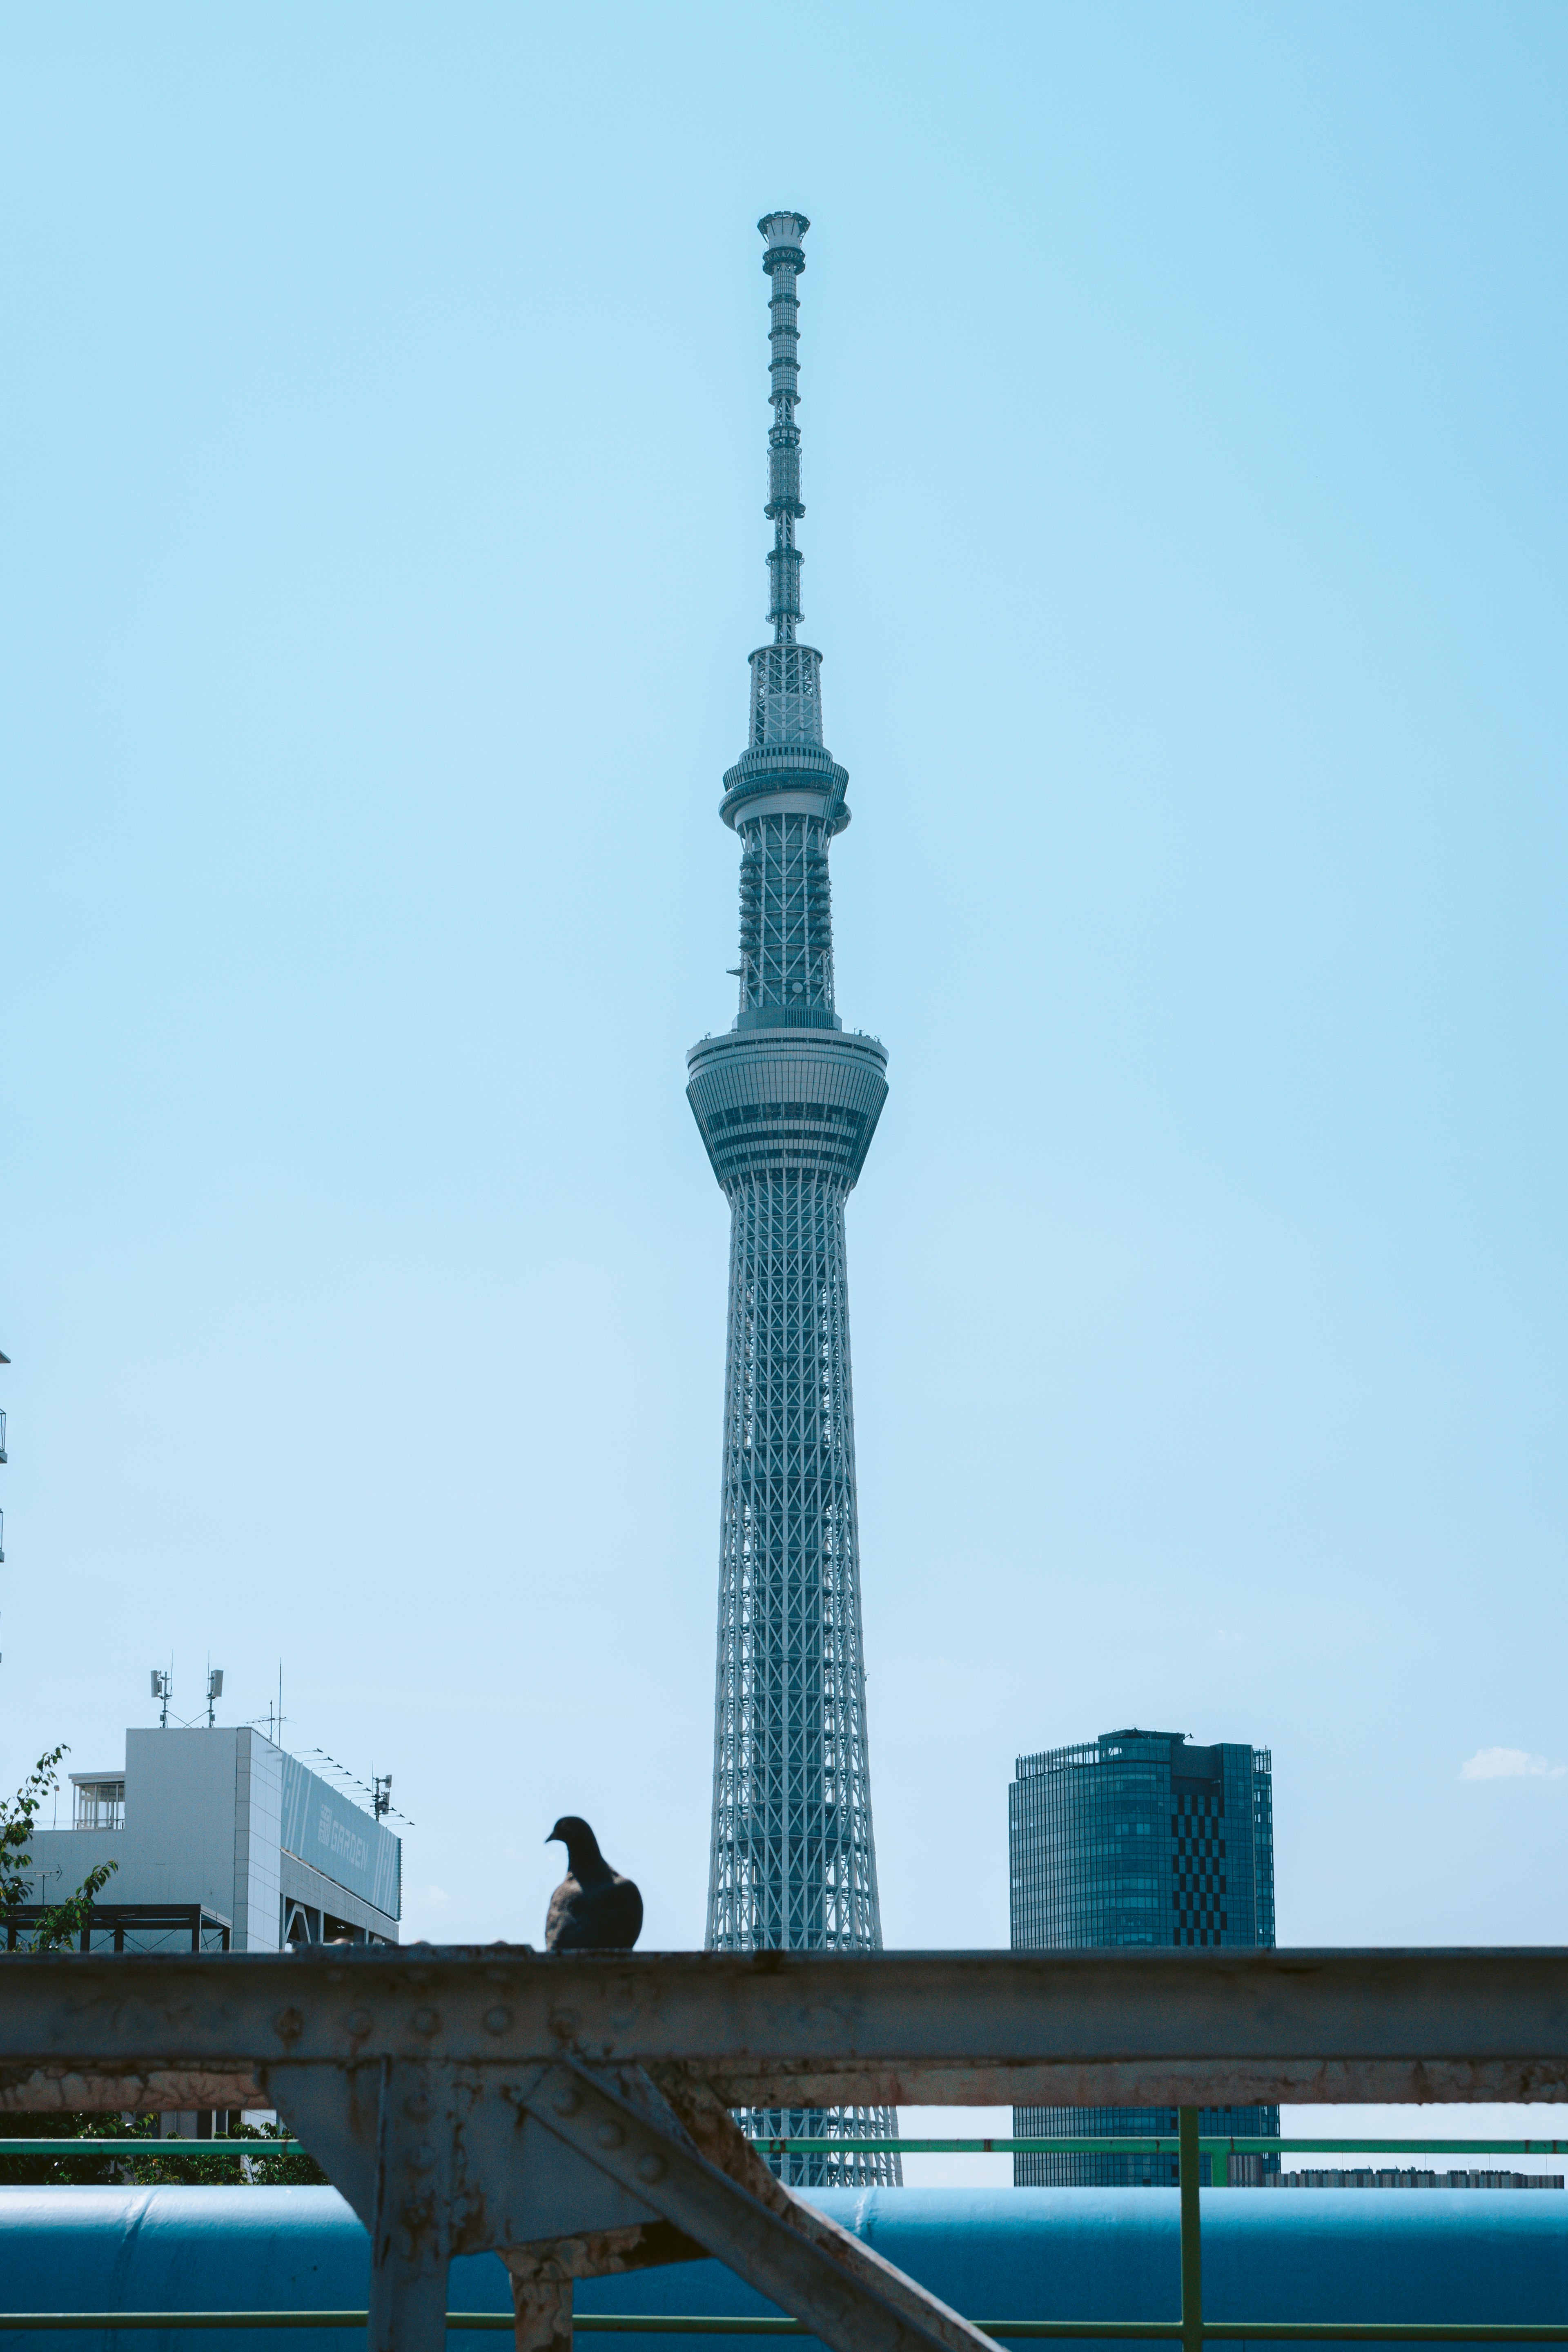
M886 1936L1140 1722L1281 1940L1568 1940L1568 21L790 21L0 26L5 1773L282 1661L409 1933L571 1806L701 1940L799 205Z

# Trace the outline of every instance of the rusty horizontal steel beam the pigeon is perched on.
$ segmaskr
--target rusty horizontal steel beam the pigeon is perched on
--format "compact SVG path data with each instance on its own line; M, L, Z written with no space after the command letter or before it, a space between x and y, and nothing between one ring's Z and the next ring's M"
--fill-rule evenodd
M0 2002L9 2110L562 2056L736 2107L1561 2100L1568 1952L71 1952Z

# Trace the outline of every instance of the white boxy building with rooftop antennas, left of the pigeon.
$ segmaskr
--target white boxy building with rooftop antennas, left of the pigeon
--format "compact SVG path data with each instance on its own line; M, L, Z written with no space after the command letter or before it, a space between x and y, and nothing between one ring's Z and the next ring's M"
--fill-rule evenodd
M402 1839L263 1731L127 1731L122 1771L71 1785L73 1825L33 1832L31 1898L118 1863L85 1950L397 1943Z

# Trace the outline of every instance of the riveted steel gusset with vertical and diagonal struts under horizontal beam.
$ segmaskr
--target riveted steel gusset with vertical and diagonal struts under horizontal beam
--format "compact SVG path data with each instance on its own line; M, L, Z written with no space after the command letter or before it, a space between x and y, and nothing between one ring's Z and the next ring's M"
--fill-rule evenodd
M512 2272L520 2352L571 2343L571 2281L715 2253L835 2352L985 2338L790 2194L701 2084L639 2065L268 2070L371 2234L369 2352L440 2352L454 2253Z

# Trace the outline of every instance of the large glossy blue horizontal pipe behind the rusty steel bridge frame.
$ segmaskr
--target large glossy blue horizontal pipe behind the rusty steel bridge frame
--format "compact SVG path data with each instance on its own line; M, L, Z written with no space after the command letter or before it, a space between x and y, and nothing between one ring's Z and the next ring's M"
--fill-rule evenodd
M1175 2317L1175 2190L820 2190L811 2201L971 2319ZM336 2190L0 2190L7 2312L364 2310L367 2293L369 2239ZM447 2303L510 2310L498 2258L456 2260ZM590 2279L576 2307L771 2310L722 2263ZM1563 2324L1568 2194L1218 2190L1204 2197L1204 2310L1208 2319ZM482 2338L449 2343L475 2352ZM78 2347L129 2352L129 2338L19 2331L2 2352ZM134 2352L193 2352L193 2338L146 2333ZM228 2331L214 2352L364 2352L364 2331ZM679 2336L651 2352L717 2347Z

